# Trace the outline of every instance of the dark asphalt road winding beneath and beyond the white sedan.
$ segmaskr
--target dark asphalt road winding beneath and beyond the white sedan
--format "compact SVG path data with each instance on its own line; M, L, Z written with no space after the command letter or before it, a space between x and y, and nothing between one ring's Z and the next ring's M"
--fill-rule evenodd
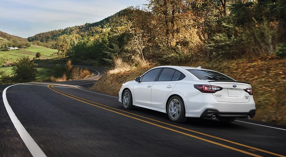
M200 118L179 124L161 112L125 110L117 96L82 87L105 71L89 68L96 70L90 79L6 89L17 118L12 122L1 98L0 156L40 156L37 150L43 156L286 156L284 126ZM7 86L0 86L1 92Z

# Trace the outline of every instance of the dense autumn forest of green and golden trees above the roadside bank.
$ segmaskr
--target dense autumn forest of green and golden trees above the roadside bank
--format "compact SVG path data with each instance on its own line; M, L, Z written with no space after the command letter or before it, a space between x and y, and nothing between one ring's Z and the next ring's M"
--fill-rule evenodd
M62 56L180 65L197 60L237 59L276 53L285 56L286 1L148 0L88 25L29 38L54 42ZM47 38L45 38L47 37Z

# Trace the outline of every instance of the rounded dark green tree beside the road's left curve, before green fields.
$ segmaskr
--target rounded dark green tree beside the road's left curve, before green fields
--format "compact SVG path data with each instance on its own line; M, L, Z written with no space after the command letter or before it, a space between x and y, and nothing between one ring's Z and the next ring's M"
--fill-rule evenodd
M13 79L16 82L33 82L37 80L37 74L39 73L34 61L31 61L29 57L22 57L17 60L15 66L12 67Z

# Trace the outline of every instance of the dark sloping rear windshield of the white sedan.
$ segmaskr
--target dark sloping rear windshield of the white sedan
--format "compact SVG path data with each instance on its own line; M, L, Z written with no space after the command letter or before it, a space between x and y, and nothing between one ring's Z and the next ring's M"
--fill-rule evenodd
M207 70L196 70L196 69L187 69L190 73L195 75L200 80L227 80L234 81L227 75L223 75L221 73L215 71L207 71Z

